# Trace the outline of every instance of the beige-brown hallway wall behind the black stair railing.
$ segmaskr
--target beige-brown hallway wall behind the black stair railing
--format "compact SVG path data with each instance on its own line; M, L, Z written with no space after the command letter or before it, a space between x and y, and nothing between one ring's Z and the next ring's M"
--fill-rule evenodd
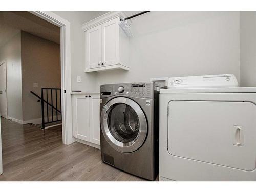
M23 121L41 118L41 103L30 91L40 95L41 88L60 88L60 45L22 32ZM33 87L38 83L38 87Z

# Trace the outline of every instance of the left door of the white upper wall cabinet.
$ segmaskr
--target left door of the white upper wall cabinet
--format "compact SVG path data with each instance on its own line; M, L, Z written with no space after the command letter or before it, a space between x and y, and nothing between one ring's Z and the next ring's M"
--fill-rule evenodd
M86 68L101 65L101 25L86 31Z

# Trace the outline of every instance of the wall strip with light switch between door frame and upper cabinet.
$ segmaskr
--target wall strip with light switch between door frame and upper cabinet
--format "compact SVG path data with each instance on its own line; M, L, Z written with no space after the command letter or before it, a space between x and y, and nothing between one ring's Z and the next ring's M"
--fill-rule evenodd
M94 91L96 89L96 73L84 73L85 50L84 32L81 25L89 22L106 11L54 11L55 14L71 23L71 83L72 90ZM81 76L81 82L77 82Z

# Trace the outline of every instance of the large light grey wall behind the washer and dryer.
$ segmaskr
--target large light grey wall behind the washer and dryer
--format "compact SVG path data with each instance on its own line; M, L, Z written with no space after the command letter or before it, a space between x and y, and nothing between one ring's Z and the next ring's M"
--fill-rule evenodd
M239 12L153 11L131 26L130 71L97 73L97 90L152 77L233 73L239 81Z

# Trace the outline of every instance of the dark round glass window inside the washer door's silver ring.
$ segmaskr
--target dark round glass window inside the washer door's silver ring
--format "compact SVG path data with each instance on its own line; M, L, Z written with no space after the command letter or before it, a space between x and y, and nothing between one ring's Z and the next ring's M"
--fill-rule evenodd
M112 136L120 142L130 142L139 133L139 117L131 106L116 104L109 113L108 125Z

